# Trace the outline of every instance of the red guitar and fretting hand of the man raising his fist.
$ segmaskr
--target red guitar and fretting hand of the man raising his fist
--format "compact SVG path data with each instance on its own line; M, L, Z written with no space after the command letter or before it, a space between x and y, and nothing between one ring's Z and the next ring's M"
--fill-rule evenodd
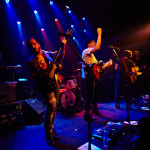
M100 80L101 75L104 73L104 69L110 65L112 65L111 59L106 63L101 62L101 63L91 65L91 70L92 70L92 73L94 74L94 77L96 78L96 80L98 80L98 81Z

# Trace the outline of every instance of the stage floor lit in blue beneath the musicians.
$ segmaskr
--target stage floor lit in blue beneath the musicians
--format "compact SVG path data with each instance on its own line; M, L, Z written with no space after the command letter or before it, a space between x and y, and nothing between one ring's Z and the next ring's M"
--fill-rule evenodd
M127 118L126 105L121 102L121 108L116 109L114 102L98 103L98 109L102 116L97 117L91 123L91 132L103 128L108 122L124 122ZM130 120L139 121L150 114L149 110L134 109L129 111ZM55 120L55 131L60 139L54 146L46 143L43 121L37 123L12 124L8 128L1 129L1 150L76 150L88 142L88 123L83 120L84 109L78 112L63 112L58 110ZM122 138L123 140L123 138ZM128 142L130 139L128 139ZM101 140L92 138L92 145L99 149L105 149ZM126 145L126 146L125 146ZM127 141L116 144L111 149L128 149ZM93 148L94 149L94 148Z

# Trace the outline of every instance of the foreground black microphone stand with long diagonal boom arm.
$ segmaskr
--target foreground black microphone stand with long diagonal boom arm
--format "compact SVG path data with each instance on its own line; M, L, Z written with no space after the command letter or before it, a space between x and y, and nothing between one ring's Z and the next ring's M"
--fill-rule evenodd
M77 55L79 56L79 58L81 59L81 61L84 63L85 67L85 72L86 72L86 76L88 76L89 78L94 78L97 79L96 76L94 75L94 73L92 72L90 66L88 64L85 63L85 61L83 60L82 56L80 55L79 51L74 47L74 45L70 42L69 40L69 36L66 36L66 40L68 41L68 43L70 44L70 46L73 48L73 50L77 53ZM86 79L88 80L88 78ZM112 96L109 94L109 92L106 90L106 88L104 87L104 85L97 79L97 82L99 82L101 84L101 86L104 88L104 90L107 92L107 94L112 98ZM87 88L87 87L86 87ZM87 92L86 92L87 94ZM88 103L90 102L90 98L87 95L87 101ZM90 104L90 103L89 103ZM88 106L88 113L89 113L89 108L90 106ZM88 119L88 150L91 150L91 120Z

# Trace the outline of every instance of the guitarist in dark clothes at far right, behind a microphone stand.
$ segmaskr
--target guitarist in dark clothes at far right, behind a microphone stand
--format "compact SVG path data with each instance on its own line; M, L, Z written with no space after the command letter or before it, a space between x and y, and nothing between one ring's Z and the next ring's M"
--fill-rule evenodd
M132 51L125 50L122 58L117 58L115 63L115 70L117 76L115 81L115 108L120 108L120 96L125 96L125 88L127 88L128 107L130 107L131 98L133 94L134 75L137 75L135 70L135 63L132 58Z

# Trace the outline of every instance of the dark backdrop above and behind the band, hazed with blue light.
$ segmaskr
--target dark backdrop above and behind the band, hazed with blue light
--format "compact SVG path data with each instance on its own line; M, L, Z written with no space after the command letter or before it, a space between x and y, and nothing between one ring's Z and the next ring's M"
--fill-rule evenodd
M96 40L96 29L101 27L102 46L96 53L98 60L108 61L113 58L112 49L108 47L108 45L113 45L119 47L121 52L125 49L138 50L141 54L141 65L149 63L150 9L148 1L55 0L53 2L61 11L59 15L54 13L49 5L49 0L10 0L13 10L8 8L4 0L0 1L0 51L3 54L1 64L9 66L20 64L22 70L16 74L16 78L27 78L29 83L31 82L27 70L27 60L32 55L26 45L22 44L16 22L21 21L24 42L32 36L39 40L42 49L57 50L60 39L54 19L59 18L64 31L73 24L66 11L66 5L70 7L78 21L78 24L74 24L76 30L73 35L79 41L80 46L72 39L71 42L78 48L80 54L84 49L84 40L89 37L88 35ZM37 24L34 10L38 11L42 26ZM82 17L86 18L89 28L83 23ZM45 44L41 27L44 27L51 45ZM85 28L90 34L83 32ZM78 55L68 45L64 67L61 71L64 82L70 79L69 76L73 74L74 70L81 68L80 62ZM106 69L105 75L102 77L103 84L112 94L114 93L115 77L114 65ZM149 73L146 77L149 78Z

